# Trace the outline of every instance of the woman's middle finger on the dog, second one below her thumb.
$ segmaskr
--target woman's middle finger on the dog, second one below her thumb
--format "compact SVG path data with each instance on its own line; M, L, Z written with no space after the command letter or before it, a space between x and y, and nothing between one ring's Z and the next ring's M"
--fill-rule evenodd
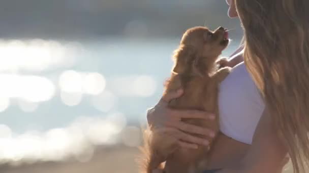
M203 128L197 125L189 124L186 122L182 121L170 121L167 123L167 125L180 129L183 132L186 133L192 133L192 134L198 134L198 135L203 135L206 137L213 138L215 136L214 132L207 128Z

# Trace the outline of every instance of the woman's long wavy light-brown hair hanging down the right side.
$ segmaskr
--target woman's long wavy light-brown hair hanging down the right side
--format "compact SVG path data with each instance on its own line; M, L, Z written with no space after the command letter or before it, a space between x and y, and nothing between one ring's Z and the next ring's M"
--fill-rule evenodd
M286 145L294 172L309 163L309 1L235 0L244 61Z

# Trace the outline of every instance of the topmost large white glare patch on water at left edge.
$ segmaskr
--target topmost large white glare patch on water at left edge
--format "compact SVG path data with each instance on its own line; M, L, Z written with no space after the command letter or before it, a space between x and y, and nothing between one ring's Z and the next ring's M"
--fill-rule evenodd
M72 49L54 40L1 40L0 72L46 71L73 65Z

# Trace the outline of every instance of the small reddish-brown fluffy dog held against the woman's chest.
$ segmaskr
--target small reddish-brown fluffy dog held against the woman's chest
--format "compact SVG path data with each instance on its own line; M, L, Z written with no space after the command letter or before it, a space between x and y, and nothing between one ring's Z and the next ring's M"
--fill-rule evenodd
M179 48L173 56L175 64L171 77L165 84L165 93L180 88L184 93L169 103L170 108L195 109L219 114L218 86L229 74L230 68L219 69L218 65L225 64L227 60L218 61L218 57L228 43L227 32L222 27L213 32L206 27L194 27L183 34ZM194 118L182 121L213 129L216 135L219 133L218 116L215 121ZM207 140L210 144L213 142L211 138ZM148 129L144 133L144 146L141 149L142 173L156 172L155 170L167 173L196 173L206 169L207 152L210 147L180 148L178 139L170 132L151 127L151 131Z

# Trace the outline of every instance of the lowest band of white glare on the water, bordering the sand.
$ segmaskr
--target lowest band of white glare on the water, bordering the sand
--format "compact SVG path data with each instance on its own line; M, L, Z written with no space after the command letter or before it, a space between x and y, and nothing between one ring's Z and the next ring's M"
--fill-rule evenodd
M125 115L119 112L106 118L79 117L65 128L53 128L46 132L17 134L9 126L0 124L0 159L14 162L61 161L74 157L86 162L94 155L95 146L117 143L121 132L128 132L132 137L129 141L125 140L127 145L137 144L137 128L125 129L126 125Z

